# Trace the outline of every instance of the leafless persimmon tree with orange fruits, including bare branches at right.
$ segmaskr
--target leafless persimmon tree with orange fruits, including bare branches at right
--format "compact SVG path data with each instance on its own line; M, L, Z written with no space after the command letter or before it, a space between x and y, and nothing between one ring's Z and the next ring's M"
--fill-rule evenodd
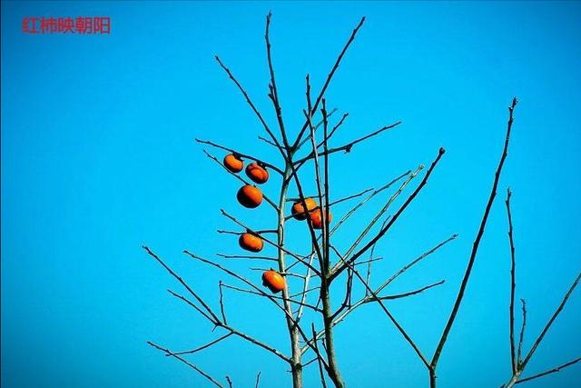
M231 69L224 65L220 57L216 55L216 61L226 73L231 82L236 86L238 91L246 103L250 106L251 111L256 115L262 128L268 135L267 137L259 136L259 138L271 146L277 148L281 154L281 164L274 161L267 161L262 157L254 154L248 154L241 150L231 148L222 144L214 143L210 140L195 139L199 144L210 146L215 150L226 152L227 154L217 157L207 150L203 150L213 162L220 164L220 166L231 176L241 182L241 187L237 193L232 193L232 198L236 198L237 202L249 211L254 211L266 202L276 213L267 219L267 225L260 225L260 227L252 227L250 224L241 221L241 218L231 215L230 212L221 209L222 215L233 223L234 230L218 230L220 234L226 234L226 237L232 235L238 238L238 245L246 253L243 254L224 254L217 253L217 257L222 259L237 260L246 262L247 269L250 271L261 272L261 276L243 276L239 272L232 270L228 264L222 264L218 260L202 257L194 254L190 250L183 251L188 257L193 259L196 263L209 265L219 270L224 276L231 278L235 284L225 283L223 279L218 281L220 312L215 313L212 310L211 303L202 299L199 293L193 290L190 284L187 284L182 277L175 273L172 268L162 261L161 257L154 254L147 246L143 246L149 256L153 257L156 262L175 278L182 287L188 292L187 296L175 293L168 290L173 297L178 298L186 303L196 313L202 315L204 319L212 323L213 329L220 329L223 333L210 342L202 343L193 346L191 350L174 352L166 347L155 343L149 343L155 349L161 351L168 357L175 358L182 363L190 366L194 371L200 373L203 378L209 383L217 386L224 386L220 379L212 377L200 369L195 363L190 362L185 357L195 357L196 354L212 347L217 343L230 340L231 338L240 338L241 340L251 343L259 348L275 355L282 360L286 367L290 368L291 381L294 388L303 386L303 370L309 365L315 363L319 368L320 384L323 387L327 383L332 383L335 387L344 387L346 383L341 373L339 354L336 352L336 337L335 327L343 322L345 318L353 313L363 304L379 305L380 310L387 316L386 323L391 330L393 325L404 341L413 349L414 353L419 358L419 361L426 367L429 376L429 386L436 387L437 383L437 368L438 361L442 355L444 345L448 341L448 335L451 333L454 323L458 317L460 306L466 297L466 288L471 278L472 269L476 263L478 247L482 241L484 231L487 226L488 215L490 214L492 204L497 194L497 185L502 172L503 165L507 159L507 149L510 139L510 132L514 121L514 110L517 105L517 99L514 99L509 107L509 118L507 124L507 134L504 144L503 153L501 154L499 164L497 165L497 172L493 181L492 189L488 197L486 208L478 229L478 234L474 241L471 254L468 258L468 267L462 278L458 295L451 309L448 317L448 322L444 327L443 333L439 338L438 345L431 358L428 358L419 348L418 343L412 339L412 335L399 323L398 318L389 310L388 302L393 300L400 300L408 297L413 297L421 293L428 292L439 285L445 283L445 280L433 279L428 284L412 288L405 293L391 293L385 294L384 290L395 281L400 275L406 273L410 268L416 266L421 261L426 259L431 254L437 252L444 245L455 240L458 234L452 234L447 239L436 244L409 264L404 265L399 271L393 274L389 279L383 281L379 286L371 285L372 264L381 260L381 257L376 255L376 246L379 241L389 232L391 227L398 222L401 215L411 209L412 204L418 198L421 192L428 185L428 180L432 175L436 175L436 167L442 160L445 149L439 148L438 154L433 162L429 164L428 169L424 173L424 165L419 166L414 170L409 170L404 174L399 174L395 178L389 180L379 189L365 189L362 191L355 191L355 194L335 194L331 192L333 182L330 181L330 159L331 155L340 152L350 153L352 148L359 143L369 141L379 134L383 134L389 129L397 127L401 122L392 124L378 125L379 129L369 132L368 134L359 134L354 136L355 139L347 144L330 144L334 138L333 134L344 127L345 120L348 113L342 114L339 120L331 123L330 120L335 120L331 117L336 112L336 109L327 110L326 91L333 79L333 75L340 68L340 64L347 54L350 45L355 40L359 29L363 25L365 17L361 18L359 24L353 29L347 43L343 46L336 61L331 66L330 72L327 75L319 93L312 99L310 75L305 77L306 93L305 93L305 109L302 110L304 116L304 124L298 128L296 134L292 134L287 128L282 114L281 96L276 82L275 66L272 59L272 45L271 45L271 14L266 16L266 28L264 33L266 45L266 61L269 69L270 83L268 85L268 98L271 101L272 108L276 115L277 130L273 130L274 126L267 123L264 115L258 110L257 105L253 103L251 95L247 93L241 82L234 76ZM302 120L302 118L301 118ZM320 128L322 127L322 134ZM275 132L277 134L275 134ZM299 151L303 146L310 145L310 150L299 155ZM332 156L334 157L334 156ZM312 162L312 163L311 163ZM307 166L312 166L312 171L306 172ZM300 171L300 174L299 174ZM281 176L280 184L273 183L271 180L271 172ZM422 175L423 173L423 175ZM244 176L245 175L245 176ZM305 180L305 175L309 176L310 181ZM409 194L404 194L408 190L408 186L413 185L415 179L419 179L419 184L411 190ZM278 180L276 180L278 182ZM340 227L347 223L347 221L367 204L372 198L379 194L384 194L396 185L396 189L385 199L384 204L373 215L368 224L363 227L359 234L354 234L354 238L348 244L349 248L341 253L338 246L333 244L333 237ZM276 185L276 186L275 186ZM311 189L310 186L315 187ZM305 188L316 191L307 195ZM269 194L264 194L268 192ZM395 210L393 214L388 214L392 205L396 203L399 196L406 197L403 204ZM543 340L551 324L555 321L556 316L563 310L566 301L571 293L573 293L578 284L581 275L577 276L576 281L566 293L563 302L556 309L556 313L547 323L543 332L538 336L532 349L527 353L524 360L521 359L522 342L526 325L526 307L523 301L523 326L519 336L518 345L515 342L514 335L514 298L515 298L515 249L512 237L512 218L509 207L510 194L507 198L507 213L509 221L509 238L511 245L511 296L510 296L510 345L511 345L511 363L512 376L506 387L511 387L516 383L523 383L528 380L536 379L547 374L556 373L563 368L566 368L579 359L561 364L553 369L547 370L543 373L537 373L531 377L520 378L521 373L527 366L528 361L533 356L539 343ZM357 200L357 204L353 205L345 214L332 214L331 206L345 203L347 201ZM289 204L290 209L289 209ZM336 211L337 207L333 207ZM339 213L337 211L337 213ZM265 217L266 219L266 217ZM310 244L307 252L298 252L287 242L288 228L286 223L300 223L309 233ZM379 226L379 231L372 234L372 230L376 225ZM274 256L268 254L259 254L264 246L269 245L275 250ZM305 248L302 248L305 250ZM261 262L261 264L256 264ZM268 265L264 265L268 263ZM272 265L274 268L269 268ZM365 265L365 266L363 266ZM377 264L375 264L377 266ZM366 274L363 271L366 269ZM255 273L251 273L255 274ZM375 276L375 275L374 275ZM259 284L259 279L261 284ZM291 280L292 279L292 280ZM292 284L291 284L292 283ZM293 289L291 286L299 287ZM331 284L335 286L331 287ZM339 284L339 285L337 285ZM356 288L355 284L359 284ZM361 289L364 293L358 296L357 290ZM226 319L234 312L227 313L226 303L224 301L224 291L229 290L229 293L237 293L248 295L251 298L263 298L273 305L286 322L286 331L289 334L289 345L286 349L278 349L257 338L255 336L244 333L240 328L235 327ZM304 312L309 311L308 315L313 318L313 322L305 323ZM212 330L213 331L213 330ZM312 355L306 358L307 353L312 352ZM314 358L313 358L314 357ZM261 373L259 372L256 378L256 387L259 386ZM233 386L234 383L230 376L225 376L225 381L228 386Z

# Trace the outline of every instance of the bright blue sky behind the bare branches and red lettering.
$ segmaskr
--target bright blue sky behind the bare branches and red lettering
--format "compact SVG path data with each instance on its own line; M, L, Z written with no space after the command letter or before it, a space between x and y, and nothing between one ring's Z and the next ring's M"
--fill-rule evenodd
M361 15L368 20L327 95L330 107L350 112L333 144L403 121L332 158L332 197L378 187L429 164L440 145L448 150L418 200L378 245L385 259L372 277L379 284L459 234L386 290L447 280L389 303L428 355L486 204L507 105L513 95L520 98L499 197L439 368L442 387L506 381L507 185L514 190L517 296L529 306L526 349L580 267L581 5L574 2L2 2L3 386L205 386L199 375L146 344L183 350L218 333L166 293L182 289L141 245L149 244L217 306L222 274L189 261L182 249L208 256L240 252L235 239L215 233L232 227L221 207L255 227L274 224L266 205L242 209L234 199L238 182L192 142L209 138L280 164L257 140L260 124L213 60L222 55L274 124L263 46L270 9L291 133L302 120L304 75L320 88ZM110 16L112 34L22 33L24 16L42 15ZM265 192L276 196L278 183L273 179ZM345 226L340 247L386 197ZM338 206L335 215L347 209ZM308 238L300 226L289 227L290 244L299 250ZM231 264L259 283L260 273L246 266ZM233 324L289 352L283 319L271 305L235 293L226 294L226 303ZM580 311L578 290L528 373L579 356ZM419 359L377 306L338 326L337 347L351 387L428 383ZM290 386L285 364L237 339L195 354L192 363L222 381L230 374L238 387L251 386L258 371L264 387ZM311 364L306 386L317 378ZM581 368L527 384L578 386Z

